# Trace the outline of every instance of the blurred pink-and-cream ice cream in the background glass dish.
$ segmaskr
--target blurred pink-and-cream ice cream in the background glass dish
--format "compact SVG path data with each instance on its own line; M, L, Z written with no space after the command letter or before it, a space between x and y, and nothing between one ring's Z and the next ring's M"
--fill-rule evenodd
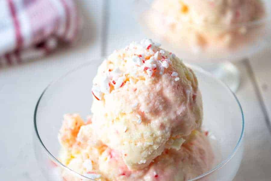
M196 51L242 44L248 27L241 23L263 14L260 0L155 0L145 19L156 34Z

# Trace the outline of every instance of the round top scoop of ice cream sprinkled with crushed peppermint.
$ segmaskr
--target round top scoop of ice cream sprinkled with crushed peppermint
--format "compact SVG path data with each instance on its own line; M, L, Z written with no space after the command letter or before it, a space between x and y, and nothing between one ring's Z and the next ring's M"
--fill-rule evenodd
M146 39L117 50L93 80L92 125L131 170L147 167L165 148L180 149L202 122L193 71L159 47Z

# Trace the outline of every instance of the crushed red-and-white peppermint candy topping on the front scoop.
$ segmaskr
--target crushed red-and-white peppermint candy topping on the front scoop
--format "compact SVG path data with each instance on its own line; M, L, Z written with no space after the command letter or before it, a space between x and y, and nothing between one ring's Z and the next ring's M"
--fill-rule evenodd
M144 71L148 77L153 77L156 73L163 75L176 55L160 49L160 46L160 43L151 39L144 39L140 43L131 43L124 49L126 52L114 51L116 55L113 54L106 60L107 64L112 65L106 67L106 71L92 88L93 96L97 100L102 100L104 94L110 94L112 87L116 90L126 83L128 86L136 84L136 80L140 80L138 78L141 77L140 71ZM179 81L177 72L172 72L170 75L175 81ZM136 106L135 103L132 108Z

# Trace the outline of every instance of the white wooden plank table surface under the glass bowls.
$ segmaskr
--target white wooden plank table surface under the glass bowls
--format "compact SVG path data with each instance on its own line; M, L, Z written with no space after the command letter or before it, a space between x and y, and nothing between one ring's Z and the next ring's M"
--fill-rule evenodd
M79 1L78 1L79 2ZM0 69L0 175L2 180L45 181L33 151L33 114L44 88L68 70L145 38L132 16L132 1L80 1L85 24L74 47ZM271 51L236 63L237 97L245 114L245 153L235 181L271 180Z

